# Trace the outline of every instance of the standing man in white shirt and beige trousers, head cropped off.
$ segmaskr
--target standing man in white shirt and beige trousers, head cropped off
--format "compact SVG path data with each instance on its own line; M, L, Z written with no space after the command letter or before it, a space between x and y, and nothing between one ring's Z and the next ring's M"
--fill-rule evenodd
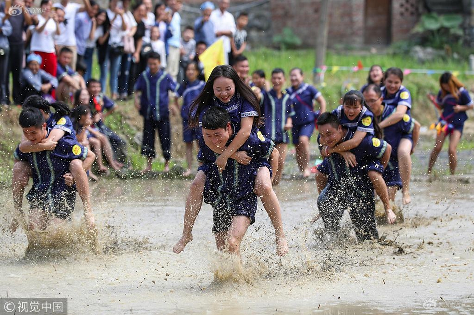
M84 10L91 10L89 0L83 0L84 6L79 3L69 3L69 0L61 0L59 3L55 3L54 7L60 8L64 11L64 27L61 29L61 33L55 38L56 42L56 53L59 54L62 47L67 47L72 50L72 60L70 63L71 68L75 71L77 64L77 42L75 36L76 29L76 14Z

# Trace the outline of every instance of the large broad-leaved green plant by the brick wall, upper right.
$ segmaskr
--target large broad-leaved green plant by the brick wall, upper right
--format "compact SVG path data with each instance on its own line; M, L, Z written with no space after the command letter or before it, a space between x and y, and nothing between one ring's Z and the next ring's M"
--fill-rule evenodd
M461 44L464 37L462 23L463 17L458 14L425 13L412 33L420 34L427 46L444 48L445 45Z

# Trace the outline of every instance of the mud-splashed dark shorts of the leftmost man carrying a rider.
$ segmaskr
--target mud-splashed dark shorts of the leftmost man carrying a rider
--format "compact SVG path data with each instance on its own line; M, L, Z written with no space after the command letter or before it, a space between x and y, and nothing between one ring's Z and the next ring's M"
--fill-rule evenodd
M56 193L47 194L39 193L34 187L26 195L29 202L30 209L40 209L47 211L59 219L67 219L74 211L74 204L76 202L75 187Z

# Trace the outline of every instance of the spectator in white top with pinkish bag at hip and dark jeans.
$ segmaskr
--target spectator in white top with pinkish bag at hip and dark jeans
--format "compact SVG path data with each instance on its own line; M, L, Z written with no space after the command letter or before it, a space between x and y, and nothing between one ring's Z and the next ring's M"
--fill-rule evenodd
M133 17L132 12L130 11L130 0L122 1L123 9L125 10L125 14L123 18L127 23L127 31L123 36L123 40L127 40L126 37L131 37L133 40L133 36L137 31L137 22ZM141 3L141 2L140 2ZM135 44L135 43L134 43ZM126 46L124 45L124 48ZM118 91L120 93L121 99L126 99L128 96L128 78L130 76L130 65L132 64L132 54L135 54L136 46L134 45L133 49L129 51L124 51L122 55L122 62L120 64L120 72L119 72L119 82L118 82Z

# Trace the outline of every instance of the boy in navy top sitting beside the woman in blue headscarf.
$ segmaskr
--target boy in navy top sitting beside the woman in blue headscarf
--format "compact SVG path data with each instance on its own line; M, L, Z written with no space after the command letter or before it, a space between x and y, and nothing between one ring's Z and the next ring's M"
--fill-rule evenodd
M56 72L59 84L56 89L56 98L63 102L68 102L77 89L85 89L86 87L84 78L69 66L72 55L72 50L67 47L61 48L59 52Z

